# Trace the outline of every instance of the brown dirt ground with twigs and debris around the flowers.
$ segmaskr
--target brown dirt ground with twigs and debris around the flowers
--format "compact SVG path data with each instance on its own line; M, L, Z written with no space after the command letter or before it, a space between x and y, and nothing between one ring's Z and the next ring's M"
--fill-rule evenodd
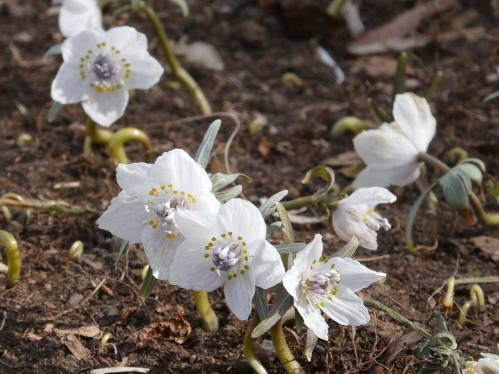
M226 69L221 73L189 63L185 67L203 88L214 111L241 118L242 129L230 151L230 167L252 178L251 184L243 184L246 197L256 204L259 198L285 188L290 190L288 198L314 192L320 183L300 183L306 171L353 150L352 134L329 136L334 121L346 115L372 119L368 97L390 109L398 52L360 57L349 54L347 46L353 38L344 25L338 22L336 30L331 31L316 22L322 16L317 9L323 9L328 1L314 2L317 7L310 11L293 10L290 6L297 2L289 2L279 5L269 1L263 8L250 0L192 0L191 15L183 18L170 2L154 1L173 40L185 34L191 42L211 43L225 61ZM357 2L366 29L371 30L415 7L418 1ZM429 2L437 6L437 1ZM452 147L465 148L498 177L498 100L482 101L499 89L499 81L491 76L499 65L498 18L493 10L497 1L445 2L444 11L422 16L416 28L409 30L426 37L427 42L424 47L408 50L407 89L423 95L436 72L442 70L444 79L431 100L438 128L429 153L444 159ZM205 5L213 10L213 21L205 15ZM107 7L105 11L109 23L113 9ZM144 16L120 14L114 25L121 23L145 32L150 52L166 65ZM335 84L332 70L318 59L310 41L313 35L319 35L321 45L344 69L346 81L342 85ZM0 194L15 192L24 198L63 200L102 211L120 189L115 165L105 148L97 147L93 156L82 155L85 116L81 107L65 106L53 123L46 120L51 105L50 83L61 58L41 57L60 40L50 1L3 2ZM302 86L283 85L281 76L286 72L298 75ZM166 71L157 87L138 92L125 116L112 127L143 128L152 139L153 160L176 147L194 155L213 120L171 123L199 115L187 90L170 88L173 80ZM267 118L268 125L250 136L249 124L257 113ZM223 125L209 166L212 173L224 171L223 149L234 128L229 117L218 118ZM16 140L23 133L33 140L18 145ZM127 151L132 160L142 159L137 145L129 145ZM430 169L430 177L433 173ZM351 182L340 172L337 180L343 186ZM360 249L356 253L367 266L386 272L387 280L361 296L376 299L422 324L431 311L440 311L442 285L456 272L458 278L499 274L498 246L493 241L498 230L469 225L440 198L436 213L425 205L419 211L414 240L427 251L416 257L405 250L404 227L419 190L415 186L392 190L397 202L381 206L380 212L393 228L380 233L377 252ZM441 197L438 191L437 195ZM498 209L492 198L484 205L489 211ZM19 209L11 211L14 218L22 215ZM4 321L0 329L0 373L88 373L109 366L149 368L150 373L252 372L242 351L248 322L231 314L222 292L210 294L221 324L215 334L203 331L190 291L158 282L151 297L141 301L138 291L146 264L143 251L136 248L115 269L117 253L111 252L111 235L97 228L96 218L91 214L33 211L29 222L22 225L16 219L7 222L0 214L0 228L17 238L22 258L17 285L10 287L5 278L0 279L0 321ZM326 224L295 225L294 229L297 241L309 242L314 233L321 233L326 253L342 246ZM272 237L274 243L281 239L279 235ZM480 238L483 236L489 239ZM72 262L67 258L68 249L78 239L83 241L85 251L79 262ZM94 293L102 281L105 283ZM464 328L457 322L457 308L445 316L464 357L478 359L480 352L498 353L498 287L483 284L483 289L486 305L476 317L469 318ZM468 295L469 285L456 286L457 304L462 305ZM350 328L329 320L330 339L319 342L310 363L303 355L305 334L296 335L293 322L285 325L288 343L307 373L419 372L423 362L415 360L410 352L421 341L401 346L397 339L410 330L383 313L372 310L371 314L371 323L358 328L353 339ZM156 325L161 337L147 340L144 327L158 322L188 323L192 332L179 344L170 330L161 329L166 324ZM436 331L434 324L425 328ZM127 344L141 331L143 346ZM113 345L101 347L100 338L108 332L114 336L110 341ZM268 335L258 339L255 351L269 373L284 373L275 354L263 349L268 340ZM400 351L394 351L399 346Z

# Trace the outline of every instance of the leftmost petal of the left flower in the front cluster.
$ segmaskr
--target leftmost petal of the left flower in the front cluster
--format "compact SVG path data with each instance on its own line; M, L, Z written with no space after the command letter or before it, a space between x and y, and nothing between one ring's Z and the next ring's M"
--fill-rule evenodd
M141 234L145 229L142 222L149 213L144 210L144 202L121 191L111 200L111 205L102 213L99 228L110 231L113 235L132 243L141 243Z

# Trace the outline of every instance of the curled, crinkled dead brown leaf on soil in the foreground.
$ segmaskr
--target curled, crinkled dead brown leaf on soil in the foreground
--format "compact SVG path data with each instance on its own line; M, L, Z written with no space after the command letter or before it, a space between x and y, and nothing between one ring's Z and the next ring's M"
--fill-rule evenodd
M178 344L184 343L191 334L191 325L180 314L166 322L156 322L147 325L126 340L126 344L136 349L144 348L154 339L173 339Z

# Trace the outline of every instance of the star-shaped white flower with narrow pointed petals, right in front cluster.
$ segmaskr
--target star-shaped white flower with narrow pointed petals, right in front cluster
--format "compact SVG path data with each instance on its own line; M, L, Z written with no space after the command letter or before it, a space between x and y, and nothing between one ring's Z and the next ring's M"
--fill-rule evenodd
M328 326L321 311L345 326L360 326L371 317L355 292L379 281L386 274L370 270L351 258L323 259L322 236L298 252L293 267L282 284L294 298L305 326L323 340L328 340Z

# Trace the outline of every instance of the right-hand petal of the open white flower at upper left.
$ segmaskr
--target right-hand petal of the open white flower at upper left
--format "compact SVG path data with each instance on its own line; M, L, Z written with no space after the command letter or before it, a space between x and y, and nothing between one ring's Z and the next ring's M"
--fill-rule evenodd
M128 89L147 90L159 82L165 69L148 52L127 57L130 64L130 77L127 79Z

